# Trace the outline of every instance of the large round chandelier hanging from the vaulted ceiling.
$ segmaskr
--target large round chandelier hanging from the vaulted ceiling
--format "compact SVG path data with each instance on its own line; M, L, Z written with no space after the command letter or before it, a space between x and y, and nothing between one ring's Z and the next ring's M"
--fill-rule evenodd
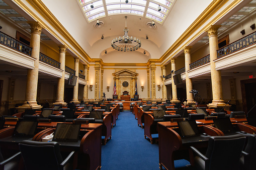
M111 47L118 51L135 51L141 47L141 42L139 39L136 39L136 37L133 38L128 36L129 30L126 26L126 19L127 16L125 16L124 36L112 40Z

